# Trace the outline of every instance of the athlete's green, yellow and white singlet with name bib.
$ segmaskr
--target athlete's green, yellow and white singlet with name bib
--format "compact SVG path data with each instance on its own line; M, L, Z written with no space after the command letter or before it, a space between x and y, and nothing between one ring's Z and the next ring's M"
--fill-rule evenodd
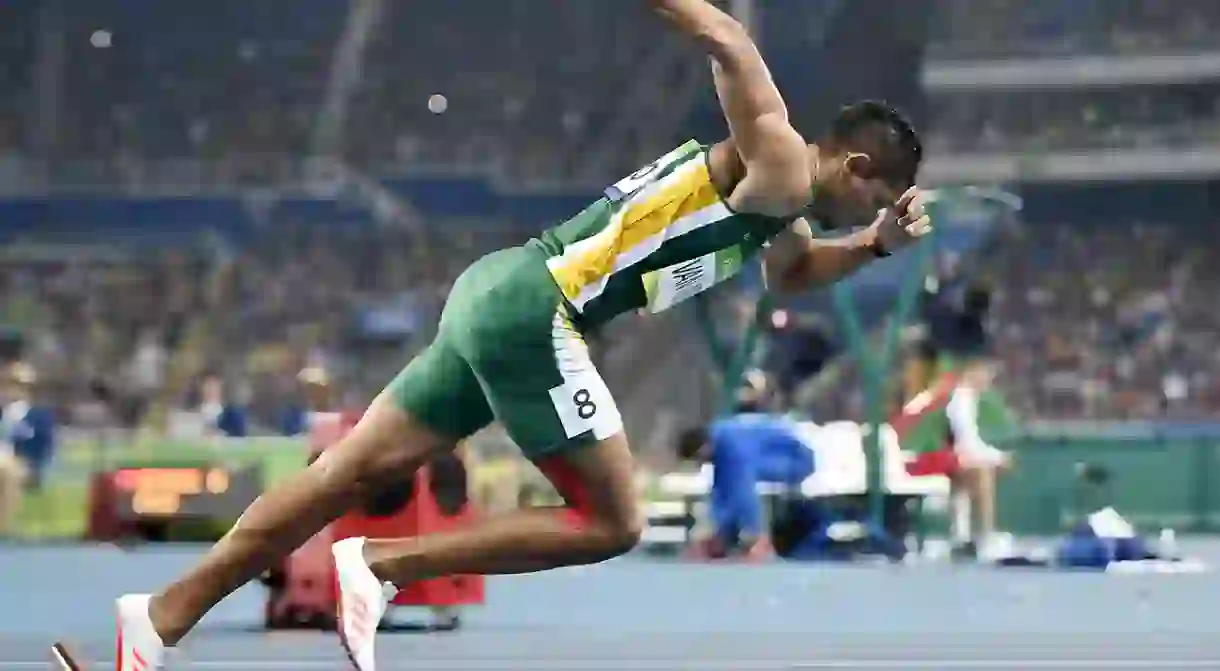
M737 274L787 220L734 212L716 190L708 149L691 140L636 173L533 245L583 326L660 312Z

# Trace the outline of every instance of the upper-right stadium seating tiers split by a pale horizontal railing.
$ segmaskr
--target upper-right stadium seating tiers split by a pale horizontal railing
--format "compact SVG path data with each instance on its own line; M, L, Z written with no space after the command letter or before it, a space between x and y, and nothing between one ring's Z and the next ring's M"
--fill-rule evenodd
M1220 49L1220 11L1200 2L938 0L935 6L930 68L1002 57L1133 59ZM1220 89L1211 77L1135 78L1122 87L1094 83L1030 93L933 89L928 148L937 154L1132 150L1213 146L1220 137Z

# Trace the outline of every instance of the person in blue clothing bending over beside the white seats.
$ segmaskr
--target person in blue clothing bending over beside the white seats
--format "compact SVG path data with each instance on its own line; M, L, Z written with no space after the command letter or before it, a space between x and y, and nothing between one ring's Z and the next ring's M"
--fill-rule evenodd
M703 550L714 558L771 554L756 486L795 487L814 472L814 451L802 439L798 422L755 412L684 432L678 456L712 466L709 508L714 533Z

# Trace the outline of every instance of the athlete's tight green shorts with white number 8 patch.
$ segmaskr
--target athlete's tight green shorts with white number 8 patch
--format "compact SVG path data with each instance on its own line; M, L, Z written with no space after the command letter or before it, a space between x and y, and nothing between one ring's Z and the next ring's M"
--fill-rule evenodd
M454 283L436 340L388 390L455 439L499 421L531 459L609 438L622 417L567 314L542 250L489 254Z

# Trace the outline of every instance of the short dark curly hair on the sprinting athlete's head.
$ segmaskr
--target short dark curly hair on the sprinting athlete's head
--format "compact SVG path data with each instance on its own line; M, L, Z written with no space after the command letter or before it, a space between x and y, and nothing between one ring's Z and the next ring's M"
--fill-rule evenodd
M875 157L881 162L878 173L884 178L915 183L920 161L924 160L924 144L915 133L915 127L902 112L880 100L863 100L839 110L831 123L831 139L839 148L852 148L864 139L864 134L874 127L882 127L886 133L877 138L884 155Z

